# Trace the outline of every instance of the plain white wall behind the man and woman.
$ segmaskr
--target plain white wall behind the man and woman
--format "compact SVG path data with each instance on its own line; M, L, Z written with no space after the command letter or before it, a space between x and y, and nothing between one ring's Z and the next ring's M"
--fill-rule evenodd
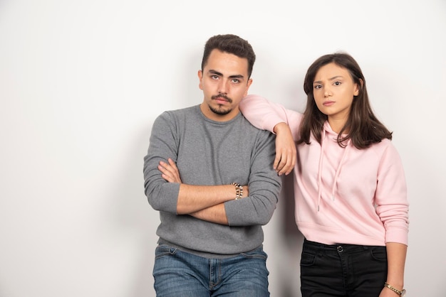
M251 93L298 110L313 60L358 60L405 165L406 288L444 297L444 0L0 0L0 296L155 296L142 158L158 114L202 102L218 33L254 46ZM285 205L265 249L271 296L294 297L301 238Z

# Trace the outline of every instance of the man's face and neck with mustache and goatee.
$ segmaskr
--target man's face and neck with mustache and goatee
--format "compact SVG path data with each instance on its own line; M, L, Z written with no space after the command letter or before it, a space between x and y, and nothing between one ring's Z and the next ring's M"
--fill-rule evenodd
M248 60L219 50L212 50L204 69L198 71L198 78L204 94L202 112L214 121L234 118L252 83L248 78Z

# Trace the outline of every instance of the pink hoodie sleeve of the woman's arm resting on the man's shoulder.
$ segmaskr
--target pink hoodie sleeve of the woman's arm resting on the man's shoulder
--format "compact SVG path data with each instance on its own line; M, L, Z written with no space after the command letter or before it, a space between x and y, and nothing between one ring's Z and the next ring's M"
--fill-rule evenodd
M302 114L283 105L270 102L259 95L247 95L239 104L240 111L256 128L273 132L274 126L286 123L291 129L293 138L299 138L299 126Z

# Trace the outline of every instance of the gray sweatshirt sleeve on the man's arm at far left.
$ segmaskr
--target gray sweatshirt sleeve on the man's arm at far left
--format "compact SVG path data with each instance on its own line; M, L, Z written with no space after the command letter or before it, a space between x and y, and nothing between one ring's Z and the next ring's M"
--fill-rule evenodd
M144 157L144 188L149 204L155 210L176 214L179 183L168 183L158 170L160 161L177 160L175 125L168 112L162 113L152 126L150 144Z

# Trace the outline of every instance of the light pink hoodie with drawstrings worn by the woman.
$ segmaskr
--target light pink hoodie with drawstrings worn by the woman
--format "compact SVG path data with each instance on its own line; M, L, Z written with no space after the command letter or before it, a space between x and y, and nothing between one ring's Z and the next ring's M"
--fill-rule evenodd
M299 139L299 112L257 95L245 97L240 110L259 129L273 131L286 122ZM293 173L299 230L323 244L407 245L409 204L398 151L388 139L361 150L348 141L342 148L337 136L326 121L322 145L311 138L311 144L297 146Z

